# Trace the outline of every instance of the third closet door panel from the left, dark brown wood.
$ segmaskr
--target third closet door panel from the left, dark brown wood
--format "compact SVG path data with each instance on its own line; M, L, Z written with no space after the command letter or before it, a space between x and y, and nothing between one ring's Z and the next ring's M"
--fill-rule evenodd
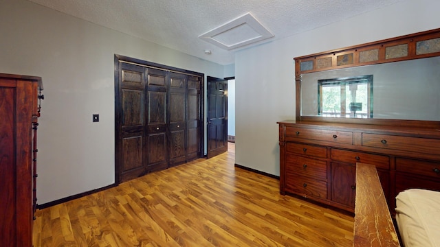
M170 72L168 113L170 161L174 166L186 162L186 75Z

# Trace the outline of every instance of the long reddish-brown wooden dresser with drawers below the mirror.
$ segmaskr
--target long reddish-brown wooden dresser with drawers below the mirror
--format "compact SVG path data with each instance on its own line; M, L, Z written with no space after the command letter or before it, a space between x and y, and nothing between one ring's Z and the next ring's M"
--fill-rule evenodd
M373 164L391 211L409 188L440 190L440 130L280 121L280 191L354 212L355 164Z

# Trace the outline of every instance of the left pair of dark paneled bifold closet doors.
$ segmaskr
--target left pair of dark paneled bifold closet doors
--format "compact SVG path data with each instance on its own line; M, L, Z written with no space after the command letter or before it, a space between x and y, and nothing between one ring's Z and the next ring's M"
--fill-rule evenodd
M122 62L120 68L117 183L168 167L167 72Z

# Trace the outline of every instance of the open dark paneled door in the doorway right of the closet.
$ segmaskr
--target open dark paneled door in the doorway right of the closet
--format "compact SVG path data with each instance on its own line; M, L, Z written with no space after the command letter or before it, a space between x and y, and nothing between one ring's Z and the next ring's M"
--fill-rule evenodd
M207 156L228 151L228 81L208 76Z

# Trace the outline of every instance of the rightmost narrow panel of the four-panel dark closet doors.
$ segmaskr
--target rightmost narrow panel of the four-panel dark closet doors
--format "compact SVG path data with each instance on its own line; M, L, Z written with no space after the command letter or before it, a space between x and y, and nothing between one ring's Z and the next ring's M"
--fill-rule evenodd
M188 76L188 93L186 96L186 160L199 158L201 154L201 78Z

